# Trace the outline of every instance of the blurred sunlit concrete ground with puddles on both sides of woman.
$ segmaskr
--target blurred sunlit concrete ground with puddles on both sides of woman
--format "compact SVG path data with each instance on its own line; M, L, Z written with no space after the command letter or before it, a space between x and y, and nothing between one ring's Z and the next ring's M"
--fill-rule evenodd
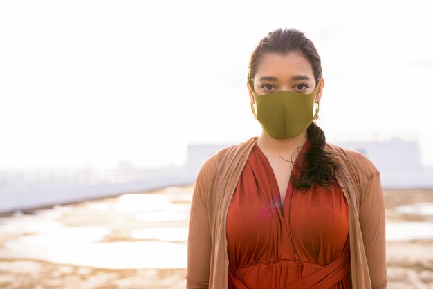
M192 187L0 218L0 288L184 288ZM433 288L433 191L385 192L388 288Z

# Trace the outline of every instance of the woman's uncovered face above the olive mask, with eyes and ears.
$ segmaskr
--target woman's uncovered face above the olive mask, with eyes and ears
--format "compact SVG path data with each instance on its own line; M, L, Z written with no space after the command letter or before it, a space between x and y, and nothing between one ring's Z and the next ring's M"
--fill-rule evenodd
M263 95L275 91L296 91L299 93L311 93L316 85L313 68L310 62L300 53L291 52L286 55L266 53L262 55L257 72L254 76L254 91ZM320 102L323 78L317 91L315 102ZM251 102L254 97L250 92Z

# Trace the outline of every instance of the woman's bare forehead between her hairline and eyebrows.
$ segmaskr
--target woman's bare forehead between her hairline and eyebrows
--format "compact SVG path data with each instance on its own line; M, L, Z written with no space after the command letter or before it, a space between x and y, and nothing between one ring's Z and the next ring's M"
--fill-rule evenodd
M291 52L285 55L266 53L261 56L255 78L272 76L286 79L293 75L306 75L311 77L311 80L314 79L313 68L301 53Z

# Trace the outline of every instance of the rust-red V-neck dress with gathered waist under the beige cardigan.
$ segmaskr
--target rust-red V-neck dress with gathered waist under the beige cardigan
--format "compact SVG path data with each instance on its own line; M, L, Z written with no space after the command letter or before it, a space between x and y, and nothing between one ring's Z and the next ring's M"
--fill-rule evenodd
M307 140L297 165L308 147ZM351 288L342 189L314 185L302 192L289 182L283 210L280 200L273 169L256 144L228 208L228 288Z

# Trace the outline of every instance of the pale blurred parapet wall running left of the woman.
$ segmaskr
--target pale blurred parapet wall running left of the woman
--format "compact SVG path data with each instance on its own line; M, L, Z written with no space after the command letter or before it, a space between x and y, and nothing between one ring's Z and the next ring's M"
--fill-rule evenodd
M195 175L186 167L0 171L0 213L185 185Z

